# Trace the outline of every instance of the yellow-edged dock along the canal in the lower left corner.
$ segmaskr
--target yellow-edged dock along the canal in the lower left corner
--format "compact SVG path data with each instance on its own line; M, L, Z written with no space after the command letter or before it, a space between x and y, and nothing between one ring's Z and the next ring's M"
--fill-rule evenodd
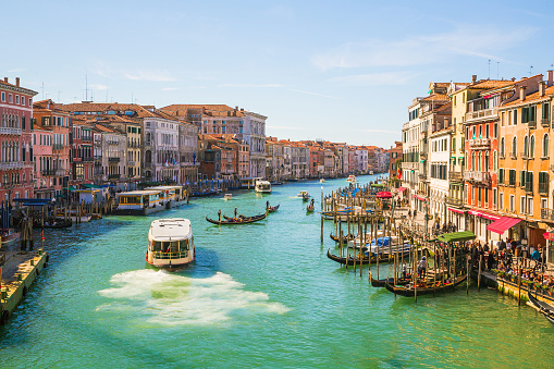
M7 251L0 258L0 325L4 325L46 267L48 254L42 249Z

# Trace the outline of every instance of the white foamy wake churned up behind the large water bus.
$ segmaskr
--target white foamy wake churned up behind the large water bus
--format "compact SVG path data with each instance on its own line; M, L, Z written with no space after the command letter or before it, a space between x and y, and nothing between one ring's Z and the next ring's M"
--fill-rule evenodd
M115 274L110 282L115 286L99 293L113 302L98 310L141 312L153 324L221 324L231 322L236 315L281 315L290 310L271 303L266 293L245 291L244 284L222 272L194 279L145 269Z

